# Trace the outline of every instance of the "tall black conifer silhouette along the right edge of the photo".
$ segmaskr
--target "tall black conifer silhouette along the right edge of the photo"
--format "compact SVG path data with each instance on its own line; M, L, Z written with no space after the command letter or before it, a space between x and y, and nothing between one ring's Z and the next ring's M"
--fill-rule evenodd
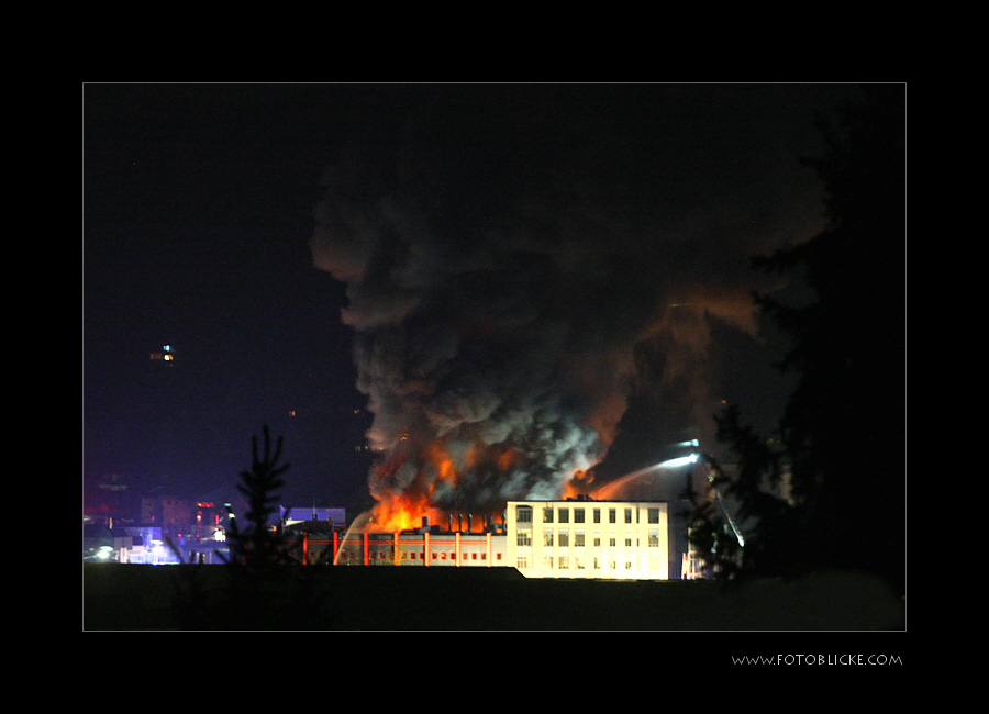
M824 188L825 228L753 259L809 297L755 295L789 338L779 367L797 376L777 429L755 433L744 404L716 415L740 467L722 486L757 524L742 549L718 537L716 518L699 532L726 574L857 570L905 590L905 122L901 85L840 107L822 124L822 156L804 159ZM787 472L784 500L766 487Z

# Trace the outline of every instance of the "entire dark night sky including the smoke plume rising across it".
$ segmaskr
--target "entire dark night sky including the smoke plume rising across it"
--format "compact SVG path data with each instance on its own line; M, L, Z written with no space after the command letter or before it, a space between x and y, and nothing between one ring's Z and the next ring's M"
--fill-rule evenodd
M365 445L379 489L501 459L459 505L716 451L786 399L748 257L822 227L799 158L854 91L85 85L84 481L229 492L263 424L285 502L351 509Z

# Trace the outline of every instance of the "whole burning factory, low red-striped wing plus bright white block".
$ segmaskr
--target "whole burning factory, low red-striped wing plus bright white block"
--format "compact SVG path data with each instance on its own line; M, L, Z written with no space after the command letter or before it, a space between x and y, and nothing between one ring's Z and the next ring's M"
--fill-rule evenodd
M485 520L481 532L442 529L426 518L393 533L352 528L307 537L304 558L315 561L322 551L338 566L510 567L526 578L676 580L698 570L682 515L680 504L667 502L512 501L503 521Z

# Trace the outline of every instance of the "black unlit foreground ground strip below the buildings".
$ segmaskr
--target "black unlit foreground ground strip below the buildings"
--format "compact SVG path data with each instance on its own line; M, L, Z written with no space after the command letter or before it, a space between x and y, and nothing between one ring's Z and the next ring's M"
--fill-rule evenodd
M712 581L527 580L512 568L85 564L84 631L890 631L904 603L873 578L812 576L725 591Z

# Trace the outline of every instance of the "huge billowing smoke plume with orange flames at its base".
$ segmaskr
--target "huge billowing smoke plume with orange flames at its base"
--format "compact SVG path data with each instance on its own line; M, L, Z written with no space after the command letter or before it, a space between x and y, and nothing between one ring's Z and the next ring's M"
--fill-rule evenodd
M754 334L747 258L799 233L764 199L804 200L765 144L708 163L710 111L681 88L441 88L341 153L312 253L346 285L379 502L558 498L630 397L679 382L710 414L712 320Z

